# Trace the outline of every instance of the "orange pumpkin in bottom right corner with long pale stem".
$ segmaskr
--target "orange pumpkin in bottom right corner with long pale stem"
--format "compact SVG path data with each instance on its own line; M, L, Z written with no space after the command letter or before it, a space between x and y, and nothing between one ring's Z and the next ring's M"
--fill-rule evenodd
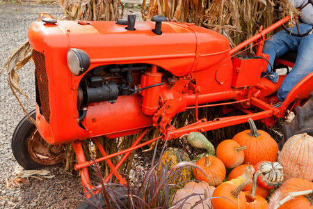
M291 197L289 201L283 203L280 206L278 203L282 201L286 196L291 194L291 192L300 192L307 191L313 189L313 183L307 180L303 180L300 178L289 178L285 180L282 185L275 190L272 194L271 199L269 201L269 205L271 208L280 208L280 209L294 209L294 208L313 208L313 194L300 195Z

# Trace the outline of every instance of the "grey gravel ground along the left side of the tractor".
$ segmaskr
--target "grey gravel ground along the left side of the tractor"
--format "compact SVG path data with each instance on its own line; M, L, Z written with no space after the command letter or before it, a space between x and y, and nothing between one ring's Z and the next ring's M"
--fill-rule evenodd
M27 39L27 30L40 12L48 12L54 17L63 14L58 5L37 3L3 3L0 1L0 69L7 57ZM127 13L137 15L139 10L125 9ZM20 85L29 95L29 99L20 96L27 111L35 108L34 66L29 62L19 70ZM50 167L51 180L29 178L22 187L7 187L15 178L15 170L22 167L17 164L11 151L11 137L19 121L24 117L23 111L6 82L7 73L0 75L0 208L74 208L79 192L83 192L81 179L63 174L63 168Z

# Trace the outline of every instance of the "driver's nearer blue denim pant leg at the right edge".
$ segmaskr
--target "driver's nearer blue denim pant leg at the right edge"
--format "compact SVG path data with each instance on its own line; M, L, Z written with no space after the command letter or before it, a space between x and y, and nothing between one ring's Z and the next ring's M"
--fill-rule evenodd
M310 26L311 28L312 26ZM291 91L301 79L313 72L313 34L300 38L298 46L298 55L294 68L282 82L278 90L278 98L281 102L286 100L289 91ZM313 91L313 89L312 89Z

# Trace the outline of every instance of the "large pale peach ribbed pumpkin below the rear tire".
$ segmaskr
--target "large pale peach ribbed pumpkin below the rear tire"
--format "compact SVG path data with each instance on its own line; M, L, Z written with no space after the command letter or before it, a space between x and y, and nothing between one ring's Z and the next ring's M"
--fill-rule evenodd
M313 180L313 137L296 134L290 137L278 155L278 162L284 167L284 179L302 178Z

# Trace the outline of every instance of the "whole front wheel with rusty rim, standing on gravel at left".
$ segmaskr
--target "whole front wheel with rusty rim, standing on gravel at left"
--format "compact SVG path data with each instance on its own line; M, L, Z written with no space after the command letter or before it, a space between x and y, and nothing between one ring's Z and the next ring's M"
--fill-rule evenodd
M35 119L35 110L29 115ZM37 127L27 119L27 116L15 128L12 151L15 160L27 170L53 166L63 161L60 146L50 145L42 139Z

